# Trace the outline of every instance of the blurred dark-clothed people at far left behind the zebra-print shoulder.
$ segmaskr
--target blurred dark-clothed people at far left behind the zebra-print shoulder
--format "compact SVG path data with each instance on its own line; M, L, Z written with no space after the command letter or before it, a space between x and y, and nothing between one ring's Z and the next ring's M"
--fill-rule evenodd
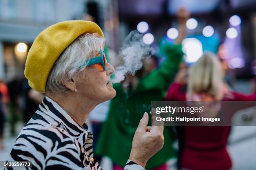
M5 122L9 122L10 136L17 135L16 124L26 124L37 110L44 95L31 89L28 80L0 83L0 149L4 150Z

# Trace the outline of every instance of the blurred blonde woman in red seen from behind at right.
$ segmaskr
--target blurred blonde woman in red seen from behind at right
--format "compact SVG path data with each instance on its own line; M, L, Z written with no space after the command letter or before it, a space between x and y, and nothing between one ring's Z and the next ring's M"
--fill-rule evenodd
M256 100L256 93L231 92L223 82L218 58L207 53L192 66L187 83L186 70L180 70L169 87L166 100ZM230 170L232 163L226 149L230 126L179 126L179 168L188 170Z

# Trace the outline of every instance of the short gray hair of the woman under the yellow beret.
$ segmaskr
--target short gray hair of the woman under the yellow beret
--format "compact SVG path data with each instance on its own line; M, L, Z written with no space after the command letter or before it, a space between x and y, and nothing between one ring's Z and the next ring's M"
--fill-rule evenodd
M84 70L86 60L95 57L103 49L103 42L104 38L99 37L97 33L77 37L54 63L46 82L46 92L68 92L69 89L65 87L63 80L71 80ZM84 67L81 67L84 63Z

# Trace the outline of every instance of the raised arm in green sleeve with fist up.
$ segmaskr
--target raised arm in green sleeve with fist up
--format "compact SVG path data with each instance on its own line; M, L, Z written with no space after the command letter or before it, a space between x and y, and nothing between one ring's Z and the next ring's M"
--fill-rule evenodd
M159 89L166 90L172 82L176 74L179 63L182 61L184 53L182 52L182 40L187 35L186 21L190 13L185 8L180 8L177 17L179 21L179 36L175 44L165 44L161 48L161 53L165 56L165 61L158 69L149 73L141 81L141 88L145 89Z

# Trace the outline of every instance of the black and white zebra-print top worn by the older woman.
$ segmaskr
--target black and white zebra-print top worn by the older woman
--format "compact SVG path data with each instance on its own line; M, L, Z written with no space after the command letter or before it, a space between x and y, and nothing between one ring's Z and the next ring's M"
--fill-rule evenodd
M13 161L30 161L33 170L101 170L93 159L92 133L87 131L87 125L78 125L49 97L44 98L20 131L7 160ZM125 169L144 168L128 160Z

